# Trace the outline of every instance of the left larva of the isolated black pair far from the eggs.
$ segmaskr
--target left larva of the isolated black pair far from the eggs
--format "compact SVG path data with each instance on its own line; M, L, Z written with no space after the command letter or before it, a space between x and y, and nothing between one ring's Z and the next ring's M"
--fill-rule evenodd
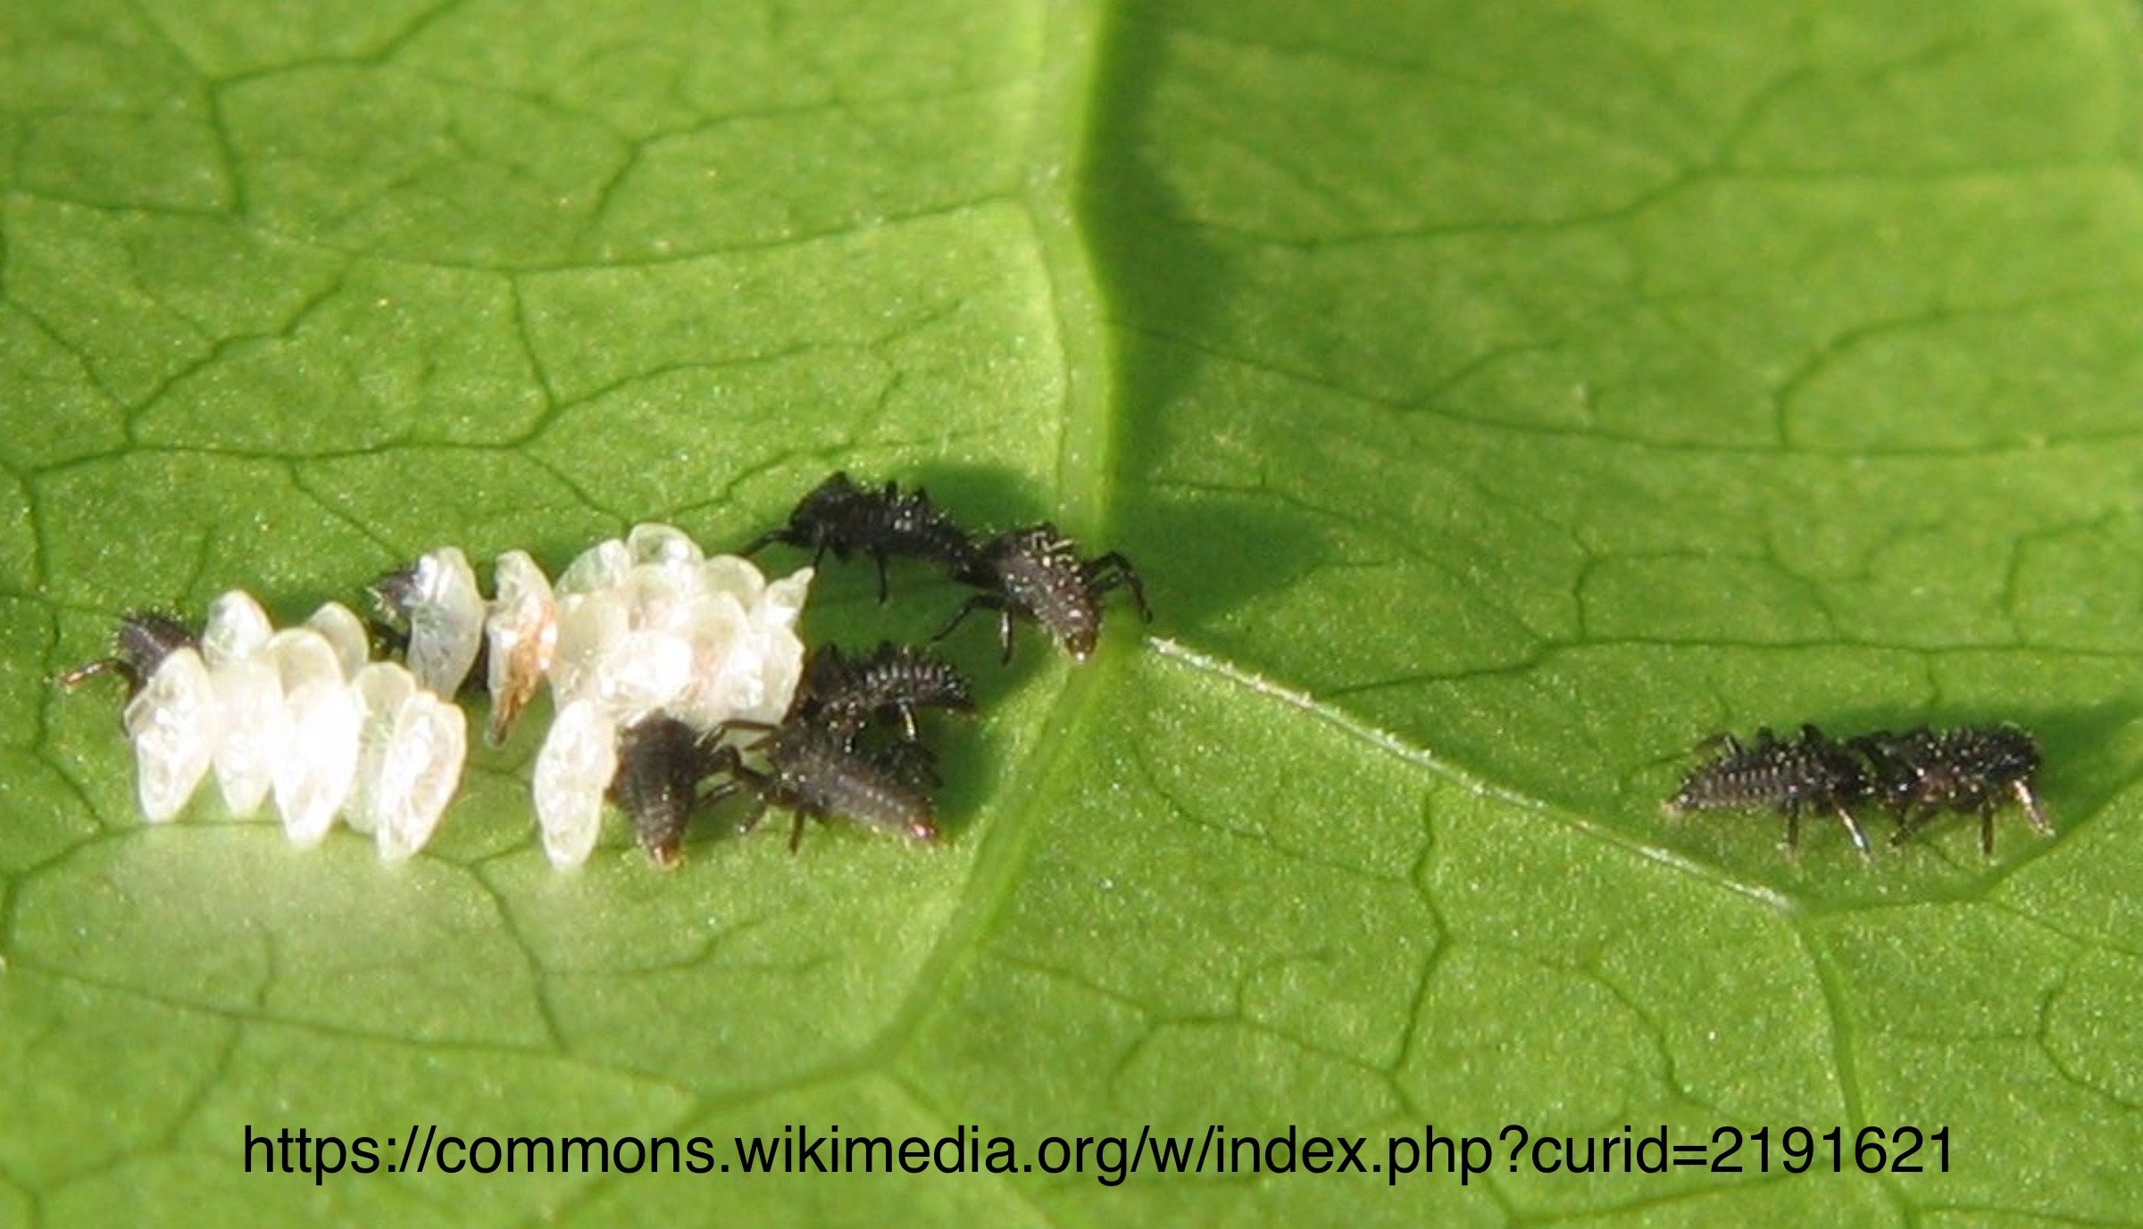
M1779 739L1759 728L1749 743L1719 734L1721 754L1699 764L1667 799L1667 814L1717 809L1772 809L1785 816L1785 844L1800 844L1800 816L1830 811L1845 824L1854 848L1869 852L1867 833L1852 807L1867 799L1867 775L1860 760L1815 726L1802 726L1800 737Z

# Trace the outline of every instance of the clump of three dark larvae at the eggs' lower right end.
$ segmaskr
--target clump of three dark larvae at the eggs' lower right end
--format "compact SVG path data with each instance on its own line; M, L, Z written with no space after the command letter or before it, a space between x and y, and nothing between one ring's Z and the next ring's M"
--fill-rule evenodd
M701 732L666 715L624 730L611 799L658 865L675 865L692 814L737 792L752 794L739 829L767 807L793 816L789 850L804 820L842 818L866 829L934 841L936 758L921 743L917 711L973 715L975 698L951 664L906 644L864 657L816 649L789 713L776 726L724 722ZM731 741L748 737L746 743ZM754 767L746 760L759 760ZM711 786L709 786L711 784Z

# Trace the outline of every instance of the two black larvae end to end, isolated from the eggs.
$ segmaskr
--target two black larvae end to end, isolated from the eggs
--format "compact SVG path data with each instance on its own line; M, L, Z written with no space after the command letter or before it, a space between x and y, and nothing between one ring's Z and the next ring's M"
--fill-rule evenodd
M1980 852L1993 856L1995 814L2008 803L2023 807L2036 831L2053 833L2034 788L2038 743L2017 726L1920 726L1845 741L1815 726L1792 739L1759 728L1749 743L1734 734L1712 743L1719 754L1689 773L1667 799L1667 814L1772 809L1785 816L1785 844L1794 848L1800 816L1830 811L1862 854L1871 852L1869 837L1854 811L1871 803L1897 820L1892 846L1944 814L1972 814L1980 818Z

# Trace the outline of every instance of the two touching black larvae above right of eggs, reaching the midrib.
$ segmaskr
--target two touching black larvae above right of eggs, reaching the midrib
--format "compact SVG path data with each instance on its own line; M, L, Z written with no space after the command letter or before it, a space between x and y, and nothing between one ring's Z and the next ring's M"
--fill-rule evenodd
M1102 600L1114 589L1127 589L1138 614L1153 621L1138 572L1121 552L1082 559L1076 544L1048 520L973 535L932 505L928 492L917 488L902 495L894 482L872 490L857 486L846 473L834 473L795 505L786 525L761 533L744 555L756 555L776 542L812 550L812 565L827 552L842 561L868 555L879 565L879 602L885 602L887 559L904 557L941 567L979 593L962 602L932 640L949 636L975 610L996 610L1005 662L1011 662L1011 627L1020 621L1041 625L1074 662L1087 662L1102 638Z

